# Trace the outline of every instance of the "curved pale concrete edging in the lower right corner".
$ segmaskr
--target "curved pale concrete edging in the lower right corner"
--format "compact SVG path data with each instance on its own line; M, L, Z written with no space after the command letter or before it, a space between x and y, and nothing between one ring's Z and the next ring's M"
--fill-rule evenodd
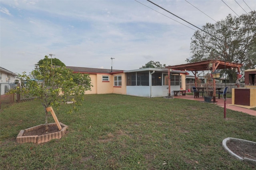
M240 141L243 141L243 142L249 142L249 143L254 143L256 144L256 142L252 142L250 140L244 140L244 139L238 139L238 138L225 138L224 140L222 140L222 146L224 147L224 149L226 151L228 151L228 153L230 153L232 156L236 157L237 159L241 160L241 161L247 161L247 162L250 162L252 164L255 164L256 165L256 160L255 159L250 159L250 158L242 158L241 156L238 156L237 154L235 154L234 152L232 152L228 146L227 146L227 142L228 140L240 140Z

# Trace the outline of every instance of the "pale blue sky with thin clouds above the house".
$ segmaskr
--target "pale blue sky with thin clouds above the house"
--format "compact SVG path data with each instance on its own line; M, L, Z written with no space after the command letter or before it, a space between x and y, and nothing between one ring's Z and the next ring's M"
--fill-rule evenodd
M152 2L198 28L256 10L255 0ZM74 67L184 64L198 28L176 16L146 0L0 0L0 67L30 73L49 54Z

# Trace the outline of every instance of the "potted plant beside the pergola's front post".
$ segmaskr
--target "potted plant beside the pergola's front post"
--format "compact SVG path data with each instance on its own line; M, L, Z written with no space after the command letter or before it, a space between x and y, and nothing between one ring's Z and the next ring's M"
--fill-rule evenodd
M212 92L213 92L213 84L212 84L212 77L210 73L206 73L204 76L205 84L204 84L204 101L211 102L212 100Z

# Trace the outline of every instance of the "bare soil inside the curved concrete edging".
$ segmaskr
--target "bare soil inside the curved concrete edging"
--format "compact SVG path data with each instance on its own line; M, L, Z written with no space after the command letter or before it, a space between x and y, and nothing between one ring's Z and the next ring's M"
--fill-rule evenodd
M229 140L226 145L228 148L242 158L256 160L256 144L239 140Z

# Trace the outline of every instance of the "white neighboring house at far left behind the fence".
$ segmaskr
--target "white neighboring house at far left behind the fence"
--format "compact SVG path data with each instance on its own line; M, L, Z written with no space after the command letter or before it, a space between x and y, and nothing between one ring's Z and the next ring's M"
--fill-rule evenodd
M17 74L0 67L0 91L1 95L7 93L10 88L14 87L14 79Z

